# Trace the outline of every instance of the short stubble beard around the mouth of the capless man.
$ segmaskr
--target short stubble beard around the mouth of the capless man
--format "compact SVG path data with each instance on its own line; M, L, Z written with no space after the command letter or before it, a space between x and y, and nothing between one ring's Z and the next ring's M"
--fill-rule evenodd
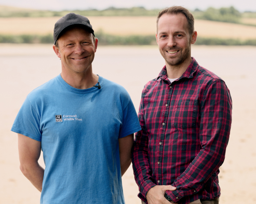
M176 57L167 57L165 55L166 50L179 50L181 53ZM180 68L185 60L190 56L191 46L188 45L188 47L184 49L183 53L182 51L183 49L181 47L165 47L161 54L169 66L172 66L173 68Z

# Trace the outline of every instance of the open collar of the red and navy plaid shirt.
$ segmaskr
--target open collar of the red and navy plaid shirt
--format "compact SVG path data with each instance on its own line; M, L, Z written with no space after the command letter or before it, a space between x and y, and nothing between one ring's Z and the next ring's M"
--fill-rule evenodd
M192 61L186 71L182 74L182 76L177 79L180 80L181 78L193 78L193 74L196 72L198 68L198 63L196 62L196 59L192 57ZM167 72L166 72L166 66L163 67L162 71L159 73L156 80L161 78L162 80L168 80Z

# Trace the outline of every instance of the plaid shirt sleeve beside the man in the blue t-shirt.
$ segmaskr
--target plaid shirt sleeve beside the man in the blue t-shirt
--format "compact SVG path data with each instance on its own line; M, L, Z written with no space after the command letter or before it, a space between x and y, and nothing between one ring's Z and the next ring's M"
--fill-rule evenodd
M143 89L144 92L144 89ZM142 193L143 197L146 198L146 194L152 187L156 186L152 178L152 171L150 168L149 158L148 158L148 137L147 130L143 115L143 92L141 97L141 102L139 106L139 123L141 130L136 133L137 145L134 146L132 154L132 165L135 175L135 180L139 186L139 192ZM143 199L143 198L141 198ZM144 199L143 199L144 200ZM146 201L146 200L144 200Z

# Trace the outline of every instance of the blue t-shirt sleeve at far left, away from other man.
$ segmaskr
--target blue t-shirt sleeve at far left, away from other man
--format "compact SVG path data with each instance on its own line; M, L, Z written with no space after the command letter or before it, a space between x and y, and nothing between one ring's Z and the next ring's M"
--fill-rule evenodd
M19 110L11 131L41 141L40 116L31 105L28 97Z

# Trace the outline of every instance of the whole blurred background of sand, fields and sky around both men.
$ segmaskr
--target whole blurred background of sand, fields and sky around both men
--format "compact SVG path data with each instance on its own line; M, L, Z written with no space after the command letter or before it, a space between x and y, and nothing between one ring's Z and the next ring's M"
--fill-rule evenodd
M61 72L52 49L55 22L69 12L89 18L99 39L94 73L124 86L138 111L144 84L165 65L155 41L156 16L173 5L193 13L198 40L192 56L225 80L233 99L220 204L256 203L254 0L0 0L0 204L40 200L19 171L17 134L10 129L26 95ZM132 167L122 180L126 203L140 204Z

